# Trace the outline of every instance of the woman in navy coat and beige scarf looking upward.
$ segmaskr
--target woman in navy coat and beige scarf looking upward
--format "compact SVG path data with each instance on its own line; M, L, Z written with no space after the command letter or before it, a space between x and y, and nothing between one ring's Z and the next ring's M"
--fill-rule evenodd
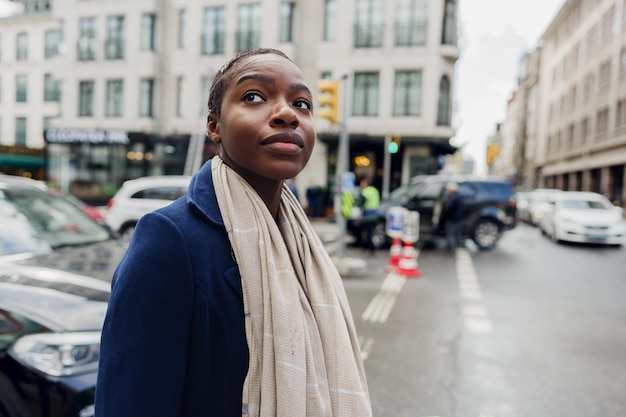
M98 417L371 416L341 278L285 184L313 150L312 102L278 50L217 72L217 155L141 218L114 274Z

